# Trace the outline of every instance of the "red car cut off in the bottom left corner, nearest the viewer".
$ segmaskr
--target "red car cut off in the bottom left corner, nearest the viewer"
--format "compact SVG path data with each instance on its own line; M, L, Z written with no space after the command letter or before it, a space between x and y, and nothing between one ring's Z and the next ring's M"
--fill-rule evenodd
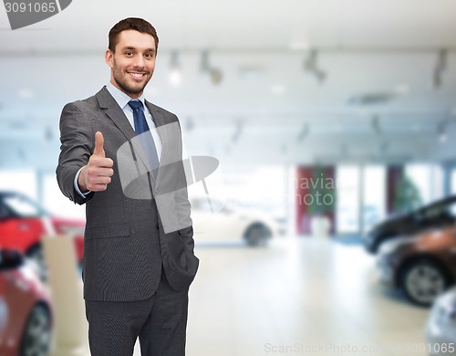
M52 309L46 285L33 261L15 250L0 250L0 355L46 356Z

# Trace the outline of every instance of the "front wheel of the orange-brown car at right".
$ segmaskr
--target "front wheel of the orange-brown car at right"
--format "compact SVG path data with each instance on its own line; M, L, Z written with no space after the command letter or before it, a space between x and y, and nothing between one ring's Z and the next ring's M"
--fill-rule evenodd
M428 258L412 261L400 273L400 287L410 301L421 306L430 306L448 286L445 271Z

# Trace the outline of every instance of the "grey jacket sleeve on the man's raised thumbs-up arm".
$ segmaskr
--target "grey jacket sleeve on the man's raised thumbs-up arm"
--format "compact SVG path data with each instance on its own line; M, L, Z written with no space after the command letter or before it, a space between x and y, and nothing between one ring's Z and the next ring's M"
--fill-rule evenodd
M60 116L60 155L57 165L57 183L62 193L72 202L85 204L93 193L83 198L75 190L74 180L78 170L88 163L93 151L93 132L80 101L67 104Z

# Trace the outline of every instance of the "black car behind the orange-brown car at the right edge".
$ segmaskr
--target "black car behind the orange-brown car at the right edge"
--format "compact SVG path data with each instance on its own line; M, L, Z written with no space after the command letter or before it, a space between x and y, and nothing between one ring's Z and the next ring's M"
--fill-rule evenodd
M406 215L389 218L372 227L364 236L368 252L375 254L385 241L398 236L409 236L436 227L456 223L456 195L425 205Z

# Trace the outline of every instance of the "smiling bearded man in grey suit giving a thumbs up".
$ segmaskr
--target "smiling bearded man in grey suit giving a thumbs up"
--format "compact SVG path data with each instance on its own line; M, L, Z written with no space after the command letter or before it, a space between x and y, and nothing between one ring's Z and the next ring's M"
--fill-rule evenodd
M60 118L57 182L86 204L83 280L94 356L130 356L137 338L142 355L185 354L199 260L179 121L143 98L158 43L143 19L113 26L108 85L67 104Z

